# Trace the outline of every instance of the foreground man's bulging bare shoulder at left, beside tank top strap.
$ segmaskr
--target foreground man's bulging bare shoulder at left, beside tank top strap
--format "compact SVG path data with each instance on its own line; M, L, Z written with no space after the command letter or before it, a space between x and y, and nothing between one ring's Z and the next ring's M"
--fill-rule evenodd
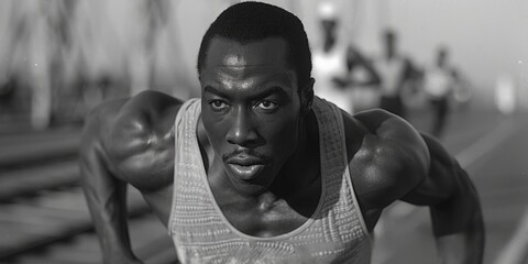
M180 107L180 100L154 91L101 103L86 120L81 162L102 165L140 190L167 186L174 162L173 128Z

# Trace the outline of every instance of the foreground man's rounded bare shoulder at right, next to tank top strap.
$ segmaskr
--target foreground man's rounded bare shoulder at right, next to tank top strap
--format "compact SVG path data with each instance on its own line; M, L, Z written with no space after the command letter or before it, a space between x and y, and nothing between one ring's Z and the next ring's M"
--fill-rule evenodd
M384 207L425 175L428 148L408 122L385 110L369 110L352 118L366 131L349 157L352 183L365 210Z

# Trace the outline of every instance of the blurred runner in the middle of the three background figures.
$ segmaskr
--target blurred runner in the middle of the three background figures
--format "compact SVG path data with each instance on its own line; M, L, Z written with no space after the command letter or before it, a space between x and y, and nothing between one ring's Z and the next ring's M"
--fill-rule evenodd
M402 92L414 80L415 70L410 61L397 52L397 36L392 30L383 34L385 54L375 61L375 69L381 78L380 108L405 118Z

